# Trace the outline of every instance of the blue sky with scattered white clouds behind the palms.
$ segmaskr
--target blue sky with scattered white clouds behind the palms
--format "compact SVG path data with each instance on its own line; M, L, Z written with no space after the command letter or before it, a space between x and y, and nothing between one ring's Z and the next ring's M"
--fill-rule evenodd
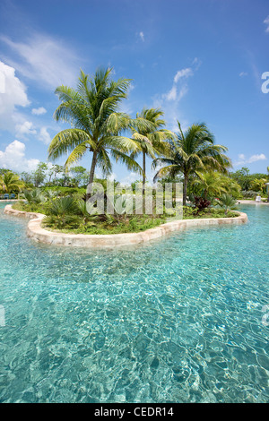
M65 128L53 119L56 86L112 66L133 80L122 105L131 116L161 107L170 130L204 122L234 170L266 172L268 46L268 0L1 0L0 168L46 161ZM113 173L138 178L121 165Z

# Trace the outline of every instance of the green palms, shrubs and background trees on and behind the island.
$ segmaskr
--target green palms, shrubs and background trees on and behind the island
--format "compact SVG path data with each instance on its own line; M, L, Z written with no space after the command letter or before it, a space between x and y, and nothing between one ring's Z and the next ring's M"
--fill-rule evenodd
M43 225L62 232L113 234L139 232L154 228L169 219L153 207L145 210L147 180L146 157L155 168L152 194L156 185L182 183L183 219L234 217L240 199L267 199L267 174L250 174L248 168L232 171L227 148L215 142L204 123L195 123L178 132L166 128L161 108L143 108L135 118L120 111L130 80L112 80L111 69L99 69L90 78L81 72L77 89L56 88L60 100L56 121L70 125L56 134L48 148L48 162L39 162L36 170L15 173L0 168L1 199L16 198L13 208L45 213ZM89 155L89 167L79 165ZM66 157L65 165L56 160ZM141 157L142 164L138 158ZM143 211L90 214L87 201L92 191L87 186L98 182L106 192L113 161L120 161L137 174L143 184ZM97 178L99 168L103 177ZM131 185L135 194L135 185ZM115 186L125 185L114 180ZM177 202L174 203L177 206Z

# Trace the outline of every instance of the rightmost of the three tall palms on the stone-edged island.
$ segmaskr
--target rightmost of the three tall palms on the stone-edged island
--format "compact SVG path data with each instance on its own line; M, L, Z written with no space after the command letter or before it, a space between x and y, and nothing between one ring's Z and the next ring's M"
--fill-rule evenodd
M230 159L223 153L227 148L215 144L213 133L210 133L204 123L191 125L183 133L178 122L178 130L177 138L169 142L169 153L164 158L153 161L154 168L158 164L165 165L157 172L154 180L161 176L183 174L183 205L185 206L189 177L210 169L226 172L226 168L230 167Z

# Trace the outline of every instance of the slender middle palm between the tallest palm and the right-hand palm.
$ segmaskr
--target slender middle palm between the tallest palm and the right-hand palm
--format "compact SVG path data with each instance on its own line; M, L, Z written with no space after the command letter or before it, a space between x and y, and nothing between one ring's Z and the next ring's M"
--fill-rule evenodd
M164 141L173 136L173 133L163 128L165 125L165 121L161 118L163 114L160 108L143 108L142 112L136 115L136 124L131 127L132 137L138 145L138 150L134 151L131 157L136 158L140 153L143 155L143 194L146 182L146 156L155 159L156 155L161 155L167 146ZM139 125L141 119L151 123L152 128Z

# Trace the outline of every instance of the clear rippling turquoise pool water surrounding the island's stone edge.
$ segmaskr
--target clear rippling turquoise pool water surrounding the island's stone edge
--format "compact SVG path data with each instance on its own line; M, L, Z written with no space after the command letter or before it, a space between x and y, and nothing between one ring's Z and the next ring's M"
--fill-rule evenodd
M35 244L0 206L1 402L269 401L269 207L89 251Z

